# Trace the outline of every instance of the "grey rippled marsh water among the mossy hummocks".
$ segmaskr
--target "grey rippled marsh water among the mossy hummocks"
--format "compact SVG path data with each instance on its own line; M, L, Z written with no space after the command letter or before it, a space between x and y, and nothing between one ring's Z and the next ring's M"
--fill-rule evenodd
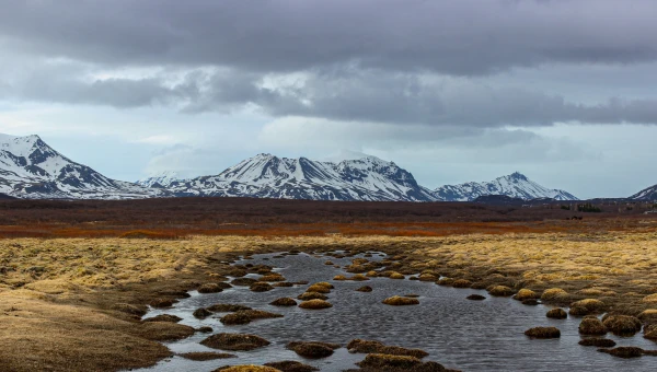
M309 360L286 350L289 341L324 341L346 346L354 338L376 339L391 346L419 348L447 368L462 371L655 371L657 358L619 359L597 352L595 347L583 347L577 342L579 318L550 319L543 305L528 306L509 298L491 298L485 291L440 287L434 282L372 278L368 281L333 281L336 275L347 275L339 268L326 266L326 257L299 254L281 258L275 255L255 255L253 259L239 264L265 264L275 266L288 281L330 281L335 289L328 294L333 307L326 310L302 310L297 306L277 307L268 303L283 297L296 298L308 286L275 288L268 292L251 292L247 287L234 287L220 293L199 294L189 292L173 309L152 310L146 317L173 314L183 318L181 324L193 327L210 326L212 334L246 333L264 337L272 345L253 351L239 351L238 358L211 361L192 361L172 357L157 365L140 371L198 371L209 372L222 365L263 364L266 362L298 360L314 365L321 371L342 371L357 368L354 363L365 354L349 353L344 347L332 357ZM374 254L370 260L380 259ZM356 256L361 257L361 256ZM344 267L349 258L328 257ZM257 276L253 276L257 277ZM362 286L373 288L362 293L355 289ZM391 295L415 293L419 305L389 306L381 303ZM466 300L471 293L480 293L484 301ZM198 307L215 303L234 303L285 315L281 318L261 319L246 325L224 326L216 317L197 319L192 313ZM535 326L555 326L561 329L558 339L529 339L523 335ZM194 336L169 342L174 353L191 351L219 351L199 342L211 334L196 333ZM656 349L657 344L634 337L616 337L609 334L618 346L638 346Z

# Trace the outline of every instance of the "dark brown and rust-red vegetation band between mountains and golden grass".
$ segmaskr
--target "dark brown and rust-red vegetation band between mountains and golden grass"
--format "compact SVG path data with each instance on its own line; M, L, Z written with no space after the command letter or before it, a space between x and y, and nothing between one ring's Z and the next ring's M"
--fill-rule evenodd
M607 211L613 209L613 211ZM558 205L522 208L456 202L362 202L249 198L124 201L0 201L0 237L178 239L186 235L321 236L656 231L657 217ZM619 217L623 217L620 219Z

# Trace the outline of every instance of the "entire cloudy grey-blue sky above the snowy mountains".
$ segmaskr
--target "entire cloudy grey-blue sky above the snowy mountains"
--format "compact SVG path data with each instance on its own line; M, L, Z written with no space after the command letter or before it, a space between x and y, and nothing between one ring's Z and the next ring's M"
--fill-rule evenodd
M257 153L657 183L654 0L1 1L0 132L117 179Z

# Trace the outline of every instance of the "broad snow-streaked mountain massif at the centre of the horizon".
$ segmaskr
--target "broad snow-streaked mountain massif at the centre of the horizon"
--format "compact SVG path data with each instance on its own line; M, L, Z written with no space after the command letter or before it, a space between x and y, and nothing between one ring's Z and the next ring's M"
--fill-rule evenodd
M365 155L320 162L258 154L216 176L173 182L176 196L245 196L314 200L435 201L431 191L393 162Z

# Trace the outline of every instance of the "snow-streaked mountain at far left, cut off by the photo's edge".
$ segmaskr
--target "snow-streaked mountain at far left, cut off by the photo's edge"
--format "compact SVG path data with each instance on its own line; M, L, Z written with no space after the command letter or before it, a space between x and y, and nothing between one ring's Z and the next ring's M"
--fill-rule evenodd
M128 199L162 194L105 177L38 136L0 135L0 193L32 199Z

